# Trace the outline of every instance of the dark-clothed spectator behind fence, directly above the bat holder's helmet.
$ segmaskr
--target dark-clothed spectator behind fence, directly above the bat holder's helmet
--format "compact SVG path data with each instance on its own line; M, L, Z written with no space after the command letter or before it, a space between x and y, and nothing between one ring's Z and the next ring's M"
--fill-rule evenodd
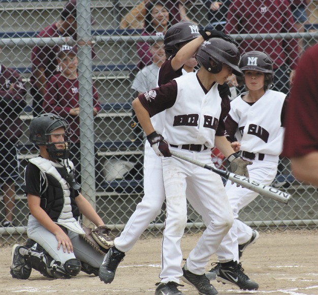
M209 24L212 26L212 28L223 31L227 21L229 6L231 5L232 0L203 0L203 3L208 9L208 14L206 17Z

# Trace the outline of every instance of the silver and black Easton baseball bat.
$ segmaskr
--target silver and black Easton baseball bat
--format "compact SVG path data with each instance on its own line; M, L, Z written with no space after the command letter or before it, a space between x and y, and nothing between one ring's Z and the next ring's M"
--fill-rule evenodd
M291 199L291 195L287 192L281 191L277 188L262 184L256 180L247 178L245 176L237 175L234 173L231 173L229 171L220 170L214 167L211 167L209 165L206 165L205 163L202 163L198 160L189 158L187 156L184 156L178 152L175 152L173 150L170 150L171 154L179 159L182 159L184 161L187 161L189 163L193 163L194 165L197 165L199 167L202 167L204 169L213 171L214 173L217 173L218 175L224 177L225 179L229 179L236 184L239 184L242 187L245 187L247 189L250 189L252 191L258 192L264 196L267 196L268 198L271 198L273 200L276 200L278 202L288 204L289 200Z

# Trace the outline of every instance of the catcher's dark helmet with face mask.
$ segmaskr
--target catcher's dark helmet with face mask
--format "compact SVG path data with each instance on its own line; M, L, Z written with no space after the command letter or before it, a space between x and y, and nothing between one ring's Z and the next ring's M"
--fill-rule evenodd
M50 142L50 134L52 131L57 128L64 128L65 130L65 140L62 143L65 143L65 149L57 149L55 143ZM58 115L51 113L42 114L37 117L34 117L29 125L29 140L39 146L47 146L47 151L52 159L62 158L67 159L69 157L69 124L65 119Z

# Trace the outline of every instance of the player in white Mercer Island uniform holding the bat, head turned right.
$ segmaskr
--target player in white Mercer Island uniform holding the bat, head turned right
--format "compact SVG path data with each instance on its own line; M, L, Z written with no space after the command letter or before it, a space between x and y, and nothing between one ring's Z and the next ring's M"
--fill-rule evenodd
M231 162L235 173L248 177L251 162L240 158L224 136L224 119L229 112L229 98L221 98L218 84L224 84L238 68L240 53L230 41L211 38L196 53L197 73L176 78L137 97L133 107L154 152L162 157L163 180L167 202L161 282L156 294L181 294L179 279L195 286L200 294L217 294L204 274L210 256L217 250L233 223L231 205L221 178L205 169L171 157L174 149L188 157L213 165L210 149L216 146ZM150 117L165 111L163 134L158 134ZM208 180L208 181L207 181ZM186 195L186 190L190 193ZM202 216L206 230L189 253L181 269L180 241L186 225L186 197ZM168 246L169 247L166 247Z

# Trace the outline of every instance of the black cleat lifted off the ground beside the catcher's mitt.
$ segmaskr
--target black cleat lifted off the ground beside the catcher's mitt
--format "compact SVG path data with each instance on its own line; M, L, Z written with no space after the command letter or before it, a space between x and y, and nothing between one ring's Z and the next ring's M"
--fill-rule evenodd
M99 277L105 284L110 284L115 277L116 269L119 263L125 257L125 253L111 247L104 257L104 261L100 267Z

